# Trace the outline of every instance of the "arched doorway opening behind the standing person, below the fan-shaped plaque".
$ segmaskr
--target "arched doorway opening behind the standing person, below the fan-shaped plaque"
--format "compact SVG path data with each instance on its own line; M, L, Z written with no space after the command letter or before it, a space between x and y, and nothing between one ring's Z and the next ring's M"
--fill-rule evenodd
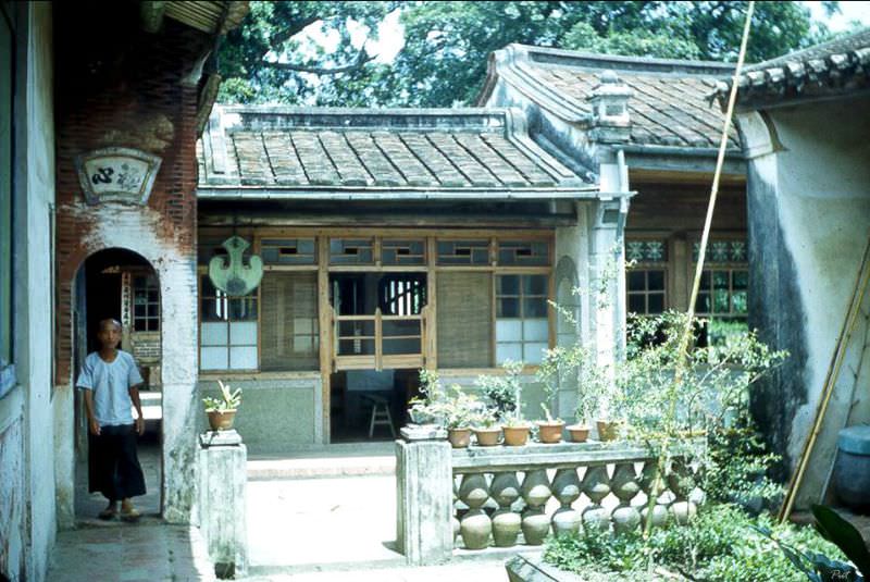
M162 512L162 386L161 301L157 273L141 256L124 249L105 249L88 257L75 278L73 306L73 364L78 377L88 354L99 349L99 323L115 319L122 324L119 349L133 355L145 383L139 398L145 434L138 437L139 463L146 495L134 499L149 517ZM75 391L75 515L89 521L105 507L99 493L88 492L88 425L82 391ZM134 412L134 418L136 413Z

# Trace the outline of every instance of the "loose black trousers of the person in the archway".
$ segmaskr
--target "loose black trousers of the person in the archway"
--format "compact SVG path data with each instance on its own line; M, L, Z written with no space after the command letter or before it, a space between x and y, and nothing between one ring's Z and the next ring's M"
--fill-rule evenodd
M88 491L102 493L110 501L145 495L134 425L102 426L99 435L88 435Z

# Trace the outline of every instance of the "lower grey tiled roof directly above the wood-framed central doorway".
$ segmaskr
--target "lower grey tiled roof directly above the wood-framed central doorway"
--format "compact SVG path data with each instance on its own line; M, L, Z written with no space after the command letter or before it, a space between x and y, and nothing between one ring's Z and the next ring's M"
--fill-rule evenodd
M505 109L217 107L198 153L200 196L594 189Z

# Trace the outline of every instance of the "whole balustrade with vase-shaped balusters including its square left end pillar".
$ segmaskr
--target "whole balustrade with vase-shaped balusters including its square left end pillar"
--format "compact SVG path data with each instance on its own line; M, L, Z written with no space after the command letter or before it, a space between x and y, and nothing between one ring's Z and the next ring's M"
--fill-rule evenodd
M634 444L451 449L437 431L402 429L402 436L398 538L411 564L461 549L538 546L550 533L639 532L650 494L655 527L683 524L704 500L687 455L694 447L686 445L670 450L671 470L656 480L658 459Z

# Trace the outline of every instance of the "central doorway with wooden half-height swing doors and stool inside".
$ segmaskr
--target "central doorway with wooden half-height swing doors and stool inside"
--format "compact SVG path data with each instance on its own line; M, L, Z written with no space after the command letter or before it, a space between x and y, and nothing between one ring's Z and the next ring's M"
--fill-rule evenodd
M425 364L426 274L330 275L331 442L395 438Z

